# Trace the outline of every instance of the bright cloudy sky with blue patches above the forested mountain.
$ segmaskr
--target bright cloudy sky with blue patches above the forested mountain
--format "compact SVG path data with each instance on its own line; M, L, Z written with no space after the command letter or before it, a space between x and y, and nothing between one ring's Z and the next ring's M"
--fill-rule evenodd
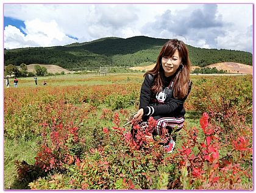
M252 52L252 16L252 4L4 4L4 47L145 35Z

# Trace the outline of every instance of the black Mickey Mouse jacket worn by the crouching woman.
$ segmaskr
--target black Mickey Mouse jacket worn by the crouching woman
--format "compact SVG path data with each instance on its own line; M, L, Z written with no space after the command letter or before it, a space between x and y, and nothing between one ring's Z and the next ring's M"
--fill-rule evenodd
M163 75L163 89L168 87L172 82L173 77L165 77ZM173 96L172 89L165 90L165 100L164 102L159 102L156 99L156 94L151 91L151 87L154 83L154 77L151 74L145 76L144 82L141 86L140 92L140 108L143 108L143 121L147 121L149 116L153 116L154 119L164 118L164 117L174 117L180 118L185 116L185 108L183 104L187 99L175 99ZM188 94L190 93L192 82L190 82ZM159 99L159 97L158 97Z

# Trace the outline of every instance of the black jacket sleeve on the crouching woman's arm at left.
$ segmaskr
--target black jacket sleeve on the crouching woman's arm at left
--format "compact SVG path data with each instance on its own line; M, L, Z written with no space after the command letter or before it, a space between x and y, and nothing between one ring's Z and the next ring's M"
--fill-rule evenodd
M152 95L152 91L151 91L152 85L153 85L153 76L151 74L146 74L144 82L141 85L139 108L144 108L149 106L149 102Z

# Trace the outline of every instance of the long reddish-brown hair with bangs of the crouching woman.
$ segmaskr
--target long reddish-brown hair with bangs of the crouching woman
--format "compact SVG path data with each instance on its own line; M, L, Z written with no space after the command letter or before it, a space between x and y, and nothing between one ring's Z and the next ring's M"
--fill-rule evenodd
M152 91L157 94L162 90L164 70L162 67L163 57L172 57L176 50L181 58L180 67L176 71L176 79L173 86L173 94L175 98L183 99L188 94L188 85L190 83L190 58L188 57L188 49L181 40L171 39L167 41L157 57L155 67L144 74L154 75L154 83ZM182 68L183 65L183 68Z

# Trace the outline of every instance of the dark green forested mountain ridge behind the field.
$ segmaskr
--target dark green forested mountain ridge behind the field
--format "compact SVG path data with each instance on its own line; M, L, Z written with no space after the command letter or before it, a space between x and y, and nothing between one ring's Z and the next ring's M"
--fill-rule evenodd
M38 63L58 65L66 69L143 66L155 63L166 41L168 40L144 36L126 39L110 37L66 46L5 49L4 65ZM224 61L252 65L252 54L249 52L187 46L193 66L204 67Z

